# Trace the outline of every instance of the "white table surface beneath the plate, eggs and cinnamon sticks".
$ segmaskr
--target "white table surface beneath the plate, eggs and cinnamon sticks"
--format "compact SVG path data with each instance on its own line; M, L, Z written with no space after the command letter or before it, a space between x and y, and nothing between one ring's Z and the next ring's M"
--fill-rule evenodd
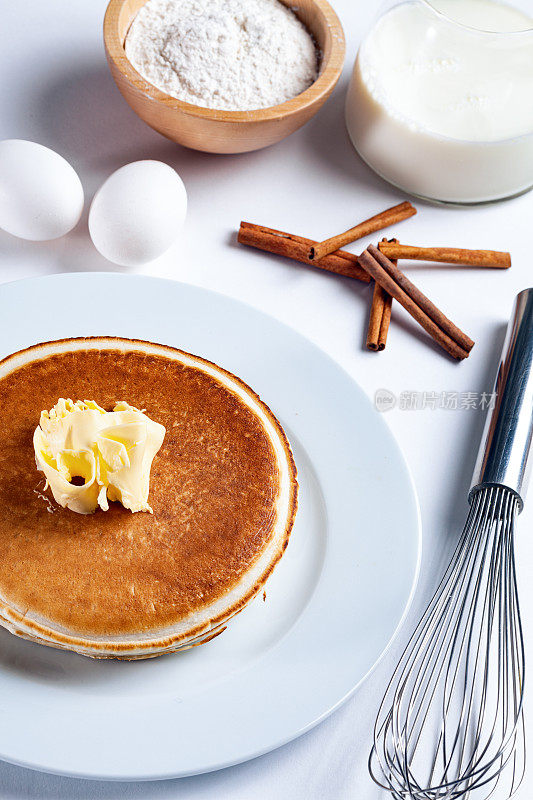
M364 0L334 0L347 34L345 73L334 96L303 130L281 144L240 156L195 153L167 142L130 111L110 77L102 46L105 0L4 2L0 12L0 139L32 139L78 170L87 199L114 169L142 158L166 161L189 193L185 234L144 272L232 295L294 326L341 363L370 397L379 388L490 392L515 294L531 282L533 195L468 209L417 203L404 241L511 250L506 272L415 266L410 275L477 342L453 363L396 306L384 353L365 351L370 292L363 284L241 248L241 219L325 238L403 199L365 167L348 141L343 103L358 43L373 14ZM198 246L195 247L195 242ZM0 231L0 281L77 270L113 270L94 250L86 215L50 243ZM243 332L245 335L245 332ZM367 773L371 729L402 642L443 567L447 537L462 528L466 492L481 435L479 410L387 414L412 469L423 520L422 574L409 620L373 675L333 716L269 755L219 773L161 783L72 780L0 763L0 797L119 800L377 800L388 795ZM529 663L533 663L533 502L519 520L519 578ZM529 694L529 717L533 694ZM529 747L533 727L529 728ZM519 797L533 796L533 770Z

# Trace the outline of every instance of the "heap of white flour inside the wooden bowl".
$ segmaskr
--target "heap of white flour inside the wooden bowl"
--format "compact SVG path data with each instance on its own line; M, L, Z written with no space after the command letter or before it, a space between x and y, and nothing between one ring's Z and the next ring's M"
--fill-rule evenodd
M277 105L318 72L311 36L279 0L148 0L125 47L147 81L206 108Z

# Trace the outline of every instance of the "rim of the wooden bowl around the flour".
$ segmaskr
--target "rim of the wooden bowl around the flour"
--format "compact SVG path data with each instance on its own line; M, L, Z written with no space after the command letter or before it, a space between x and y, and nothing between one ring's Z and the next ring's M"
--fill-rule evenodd
M322 65L322 71L316 81L304 92L296 97L286 100L276 106L268 108L251 109L248 111L226 111L224 109L205 108L194 103L178 100L162 92L149 83L137 72L126 56L124 47L120 44L118 35L119 16L122 7L128 0L110 0L104 17L104 45L108 58L122 77L131 85L147 96L150 100L160 103L167 108L181 111L185 114L203 119L217 120L220 122L264 122L267 120L281 120L292 114L313 106L331 92L337 83L346 55L346 40L340 19L327 0L310 0L323 14L326 20L331 48L328 59ZM147 1L147 0L146 0ZM285 3L284 3L285 5ZM287 4L290 8L290 5Z

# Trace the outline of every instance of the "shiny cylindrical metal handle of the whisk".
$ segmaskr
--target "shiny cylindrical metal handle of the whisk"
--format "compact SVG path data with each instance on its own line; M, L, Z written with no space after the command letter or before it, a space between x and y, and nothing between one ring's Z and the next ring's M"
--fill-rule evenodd
M533 289L524 289L515 300L494 392L470 498L481 487L506 486L517 494L522 510L533 438Z

